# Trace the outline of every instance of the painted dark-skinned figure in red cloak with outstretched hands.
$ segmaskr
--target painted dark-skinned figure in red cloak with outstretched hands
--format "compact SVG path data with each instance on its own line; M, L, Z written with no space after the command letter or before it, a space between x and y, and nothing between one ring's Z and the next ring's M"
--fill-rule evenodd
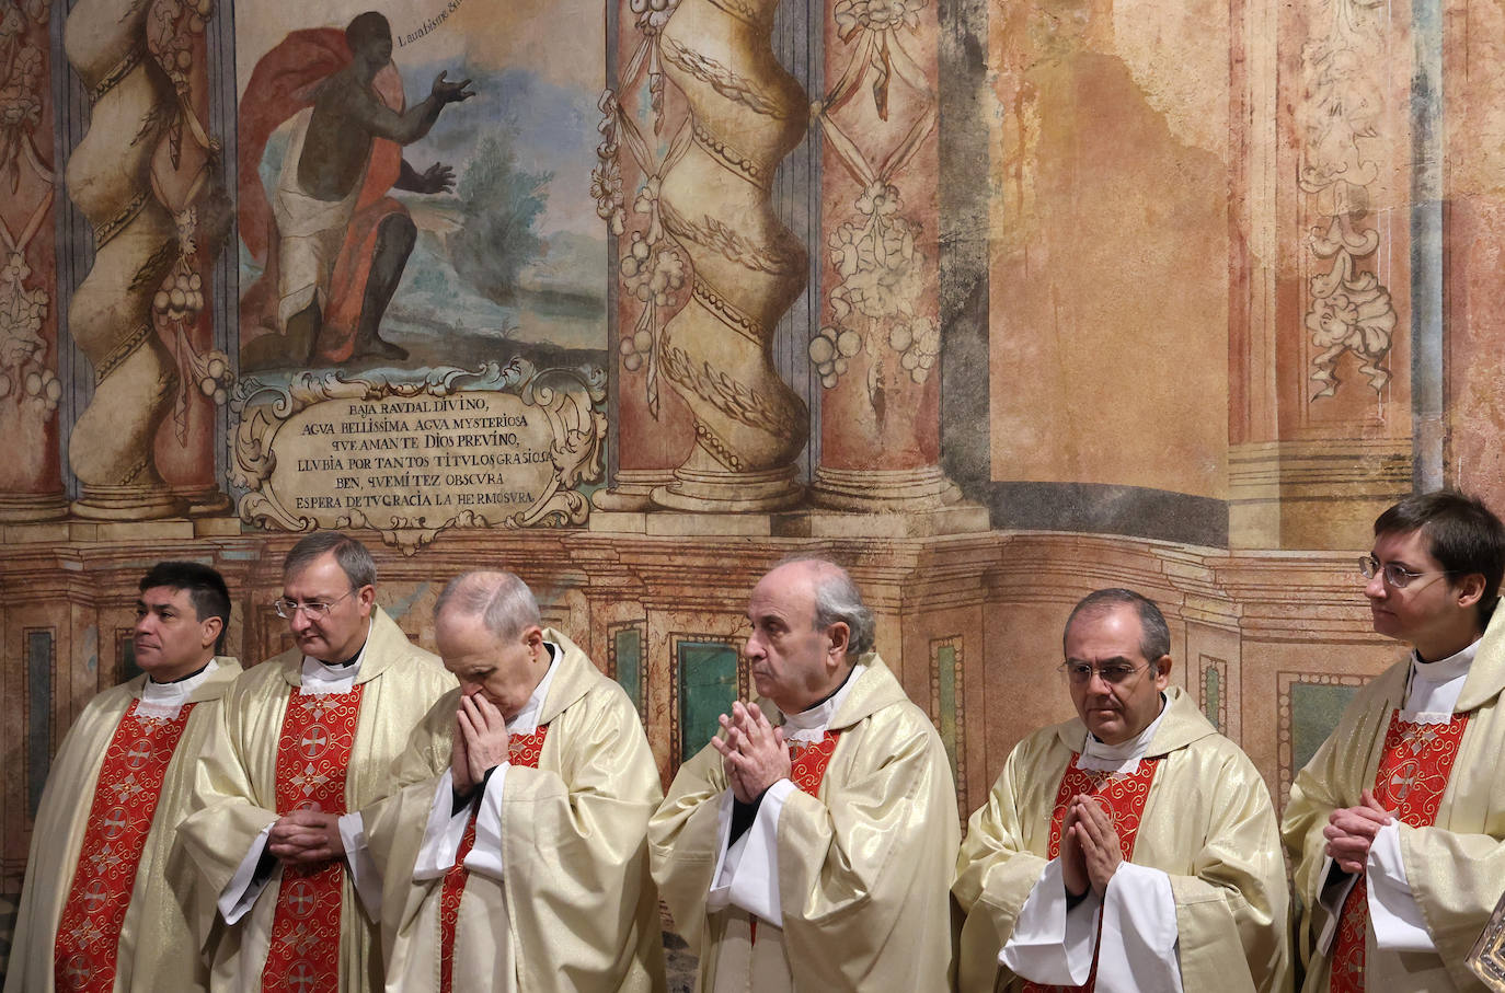
M417 227L387 191L432 194L455 185L448 166L420 173L402 146L426 135L445 105L474 96L470 80L451 83L439 72L429 96L405 110L387 18L369 11L352 20L343 51L331 35L289 35L257 63L242 98L248 146L241 161L253 172L242 173L241 196L250 202L242 202L241 226L251 254L266 263L242 311L274 316L281 331L247 343L248 369L406 358L379 331ZM262 191L254 167L266 137L293 116L281 173Z

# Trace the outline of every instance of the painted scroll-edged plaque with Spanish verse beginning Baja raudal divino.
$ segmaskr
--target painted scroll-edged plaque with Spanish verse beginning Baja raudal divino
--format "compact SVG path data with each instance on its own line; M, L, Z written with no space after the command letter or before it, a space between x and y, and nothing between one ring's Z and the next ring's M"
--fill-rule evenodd
M604 385L599 370L524 360L418 381L242 381L232 402L241 519L373 528L409 551L455 527L578 525L588 513L579 486L604 469Z

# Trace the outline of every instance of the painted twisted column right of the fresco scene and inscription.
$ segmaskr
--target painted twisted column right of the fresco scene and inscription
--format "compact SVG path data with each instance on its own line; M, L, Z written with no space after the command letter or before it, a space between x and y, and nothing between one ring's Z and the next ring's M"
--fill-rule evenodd
M682 0L664 72L694 141L664 175L665 230L694 263L689 302L659 363L695 418L695 447L653 501L683 510L775 510L802 496L793 459L810 412L774 369L780 316L805 286L805 248L771 205L774 169L804 137L805 92L771 48L778 0Z

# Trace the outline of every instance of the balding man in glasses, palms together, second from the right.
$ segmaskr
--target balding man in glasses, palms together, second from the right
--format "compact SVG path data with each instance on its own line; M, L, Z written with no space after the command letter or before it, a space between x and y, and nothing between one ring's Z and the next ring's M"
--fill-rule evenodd
M1063 648L1078 718L1020 742L968 823L957 988L1290 990L1270 793L1169 686L1160 609L1099 590Z

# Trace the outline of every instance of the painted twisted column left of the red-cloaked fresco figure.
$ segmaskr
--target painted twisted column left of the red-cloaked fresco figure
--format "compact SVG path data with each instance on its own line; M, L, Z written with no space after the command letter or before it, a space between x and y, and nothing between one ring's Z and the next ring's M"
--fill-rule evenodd
M152 444L178 372L157 336L152 296L176 259L172 215L152 196L155 120L173 89L146 57L140 0L81 0L63 47L93 102L68 161L68 193L95 229L95 263L74 293L69 329L95 370L95 393L68 444L81 484L74 513L138 521L173 516Z

